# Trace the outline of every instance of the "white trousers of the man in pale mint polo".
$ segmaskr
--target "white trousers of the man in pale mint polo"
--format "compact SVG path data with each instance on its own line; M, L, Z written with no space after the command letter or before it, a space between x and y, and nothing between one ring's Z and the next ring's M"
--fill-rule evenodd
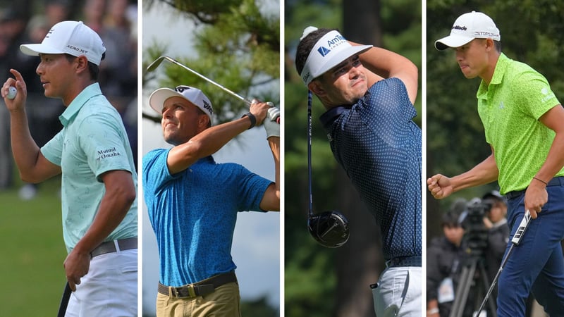
M137 249L94 257L65 316L137 316Z

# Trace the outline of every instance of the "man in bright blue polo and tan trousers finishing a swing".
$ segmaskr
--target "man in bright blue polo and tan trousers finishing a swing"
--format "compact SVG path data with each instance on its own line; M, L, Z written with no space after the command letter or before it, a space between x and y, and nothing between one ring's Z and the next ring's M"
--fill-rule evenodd
M212 126L209 99L194 87L157 89L164 140L143 158L143 192L160 259L157 316L240 316L231 258L239 211L280 209L280 111L253 101L242 118ZM264 125L276 182L212 154L247 129ZM264 142L264 141L263 141Z

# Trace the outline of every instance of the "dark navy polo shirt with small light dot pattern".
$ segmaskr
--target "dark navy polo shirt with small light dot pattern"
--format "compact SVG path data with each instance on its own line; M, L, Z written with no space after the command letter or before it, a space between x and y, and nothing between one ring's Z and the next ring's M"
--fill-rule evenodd
M353 106L321 116L331 151L381 226L386 260L420 256L421 129L405 85L376 82Z

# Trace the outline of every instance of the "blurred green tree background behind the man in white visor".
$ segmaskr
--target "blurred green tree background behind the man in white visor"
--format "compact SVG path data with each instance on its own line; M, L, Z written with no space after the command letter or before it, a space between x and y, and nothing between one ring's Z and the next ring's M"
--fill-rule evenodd
M335 27L353 42L374 44L410 58L421 69L420 1L286 1L285 8L285 311L286 316L374 316L369 284L384 269L374 218L333 159L314 98L312 166L314 212L338 209L350 240L325 249L307 231L307 88L295 70L298 39L308 25ZM419 94L420 96L421 94ZM417 99L421 122L421 101Z

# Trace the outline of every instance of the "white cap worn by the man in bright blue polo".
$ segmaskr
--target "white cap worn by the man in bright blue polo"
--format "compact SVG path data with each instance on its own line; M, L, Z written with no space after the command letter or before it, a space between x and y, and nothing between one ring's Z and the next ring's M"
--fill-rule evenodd
M149 106L162 113L164 101L171 97L180 97L190 101L192 104L202 109L209 117L209 122L213 122L214 108L212 102L206 97L202 90L190 86L178 86L175 89L159 88L149 96Z

